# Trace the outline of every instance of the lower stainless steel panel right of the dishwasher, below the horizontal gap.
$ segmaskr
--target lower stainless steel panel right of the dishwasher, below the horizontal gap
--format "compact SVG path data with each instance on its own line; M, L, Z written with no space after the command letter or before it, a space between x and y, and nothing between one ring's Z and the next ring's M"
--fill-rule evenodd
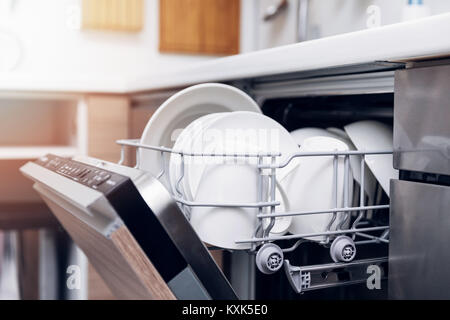
M450 187L391 181L389 296L450 299Z

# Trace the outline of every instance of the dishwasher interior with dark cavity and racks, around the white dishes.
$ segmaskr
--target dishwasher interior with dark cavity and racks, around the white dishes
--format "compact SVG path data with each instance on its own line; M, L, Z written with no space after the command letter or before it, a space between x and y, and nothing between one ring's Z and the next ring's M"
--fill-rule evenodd
M285 83L282 83L280 85L277 81L275 81L275 85L272 81L268 82L268 85L272 87L270 89L266 89L266 84L255 85L252 81L244 82L244 84L231 84L249 93L260 105L263 114L291 132L305 127L343 128L347 124L363 120L375 120L392 128L393 79L394 72L383 71L308 77L302 80L303 85L300 86L295 83L298 81L296 79L292 89L289 90L286 88L290 84L286 86ZM302 91L302 87L305 87L305 84L308 87L311 82L318 90L307 89L305 91L303 89ZM330 83L335 83L332 90L326 89ZM280 94L278 94L278 89L273 89L273 86L281 88ZM297 88L300 88L298 90L300 94L297 94ZM325 90L322 90L323 88ZM122 156L125 154L126 147L149 148L155 152L161 152L161 154L172 152L167 148L140 145L136 140L123 140L118 143L122 145ZM392 150L384 152L392 153ZM336 154L335 158L338 156L361 159L365 154L358 154L358 152L352 155ZM160 177L164 174L163 169ZM182 178L183 176L180 177L180 179ZM326 242L319 244L315 241L303 241L302 239L305 238L300 238L295 234L274 241L272 239L266 241L263 237L259 239L261 241L255 240L252 249L247 251L210 248L212 251L222 252L223 271L240 298L297 300L386 299L388 297L389 196L377 183L375 197L370 203L367 195L361 196L357 182L352 179L352 183L352 203L345 206L348 209L346 214L348 214L349 226L365 228L367 232L343 230L342 233L339 233L349 234L357 247L357 249L355 248L357 255L344 263L342 261L335 263L330 258L333 241L330 241L329 238ZM276 199L265 200L268 201L267 206L269 206L270 200ZM182 199L178 199L178 201L189 208L196 205L219 206L217 204L188 203L183 202ZM358 210L358 208L360 209ZM339 212L341 211L339 210ZM351 228L348 227L348 229ZM284 259L286 259L284 261L289 262L285 262L282 268L278 269L277 267L276 272L264 274L258 270L257 262L258 255L262 255L260 253L262 246L260 247L260 245L268 242L282 248ZM375 290L369 290L366 283L370 275L368 267L371 265L376 265L381 270L381 285ZM298 269L298 266L301 266L302 269Z

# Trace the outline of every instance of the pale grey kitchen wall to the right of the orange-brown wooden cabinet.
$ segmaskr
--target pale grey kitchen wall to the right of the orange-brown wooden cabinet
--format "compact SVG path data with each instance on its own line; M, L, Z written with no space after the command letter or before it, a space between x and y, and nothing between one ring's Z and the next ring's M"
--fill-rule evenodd
M262 17L270 6L280 0L242 0L252 6L253 25L247 26L253 38L247 37L246 49L260 50L298 41L299 3L307 4L306 39L313 40L333 35L364 30L370 25L384 26L402 22L403 8L408 0L287 0L283 10L270 21ZM424 0L431 15L450 12L449 0ZM248 40L251 39L251 40Z

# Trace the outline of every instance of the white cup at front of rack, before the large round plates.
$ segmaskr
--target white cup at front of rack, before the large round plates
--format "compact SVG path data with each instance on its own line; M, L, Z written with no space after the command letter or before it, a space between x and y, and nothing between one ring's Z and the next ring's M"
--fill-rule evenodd
M235 163L232 159L227 159L221 164L207 165L195 200L225 204L257 202L258 175L256 164L248 163L248 159L247 163ZM276 207L275 212L289 210L288 200L278 184L276 200L281 204ZM253 236L257 213L256 208L193 207L190 222L202 241L221 248L245 250L250 248L250 244L236 244L235 241ZM291 220L290 217L276 218L270 235L285 234ZM265 219L263 225L267 227L269 222L269 219Z

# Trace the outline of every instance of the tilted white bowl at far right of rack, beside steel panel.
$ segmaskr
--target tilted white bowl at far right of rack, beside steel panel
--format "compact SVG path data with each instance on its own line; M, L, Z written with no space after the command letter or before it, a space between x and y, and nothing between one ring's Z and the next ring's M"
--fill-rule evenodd
M377 121L359 121L345 126L344 129L358 150L393 150L392 128L386 124ZM398 179L398 171L393 167L392 154L368 155L366 163L389 196L390 180Z

